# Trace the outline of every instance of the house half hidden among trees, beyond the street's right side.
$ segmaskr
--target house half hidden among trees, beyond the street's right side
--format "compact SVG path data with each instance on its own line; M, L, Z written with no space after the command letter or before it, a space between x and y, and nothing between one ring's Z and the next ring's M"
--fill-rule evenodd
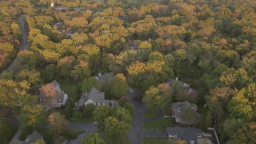
M190 88L190 85L188 83L178 81L178 77L176 77L176 79L171 79L169 77L166 83L168 83L171 86L174 81L181 83L182 91L187 92L190 98L197 98L197 91L195 89Z

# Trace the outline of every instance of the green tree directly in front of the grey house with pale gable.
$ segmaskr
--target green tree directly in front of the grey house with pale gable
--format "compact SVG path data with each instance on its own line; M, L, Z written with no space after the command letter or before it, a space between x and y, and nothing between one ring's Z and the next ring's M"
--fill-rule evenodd
M97 121L98 127L104 129L104 121L113 114L113 108L110 106L99 106L94 110L94 119Z

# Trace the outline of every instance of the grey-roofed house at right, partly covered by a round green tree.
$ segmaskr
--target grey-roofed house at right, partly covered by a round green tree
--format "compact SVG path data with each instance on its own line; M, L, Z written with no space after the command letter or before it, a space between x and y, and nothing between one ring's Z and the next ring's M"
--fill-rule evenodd
M177 103L171 103L172 105L172 112L173 112L173 117L175 117L175 122L176 123L182 123L182 124L188 124L184 121L182 121L182 113L183 111L187 108L190 107L193 109L195 112L197 110L197 106L195 104L189 103L188 101L182 101L182 102L177 102ZM199 114L196 113L198 116ZM192 123L190 123L192 124Z

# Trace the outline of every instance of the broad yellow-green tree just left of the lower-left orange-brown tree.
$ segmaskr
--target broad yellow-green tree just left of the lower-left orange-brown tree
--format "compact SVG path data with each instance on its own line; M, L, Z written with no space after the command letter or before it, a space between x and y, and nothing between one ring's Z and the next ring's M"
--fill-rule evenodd
M45 121L47 113L41 105L25 105L20 111L18 120L21 127L36 128L38 124Z

